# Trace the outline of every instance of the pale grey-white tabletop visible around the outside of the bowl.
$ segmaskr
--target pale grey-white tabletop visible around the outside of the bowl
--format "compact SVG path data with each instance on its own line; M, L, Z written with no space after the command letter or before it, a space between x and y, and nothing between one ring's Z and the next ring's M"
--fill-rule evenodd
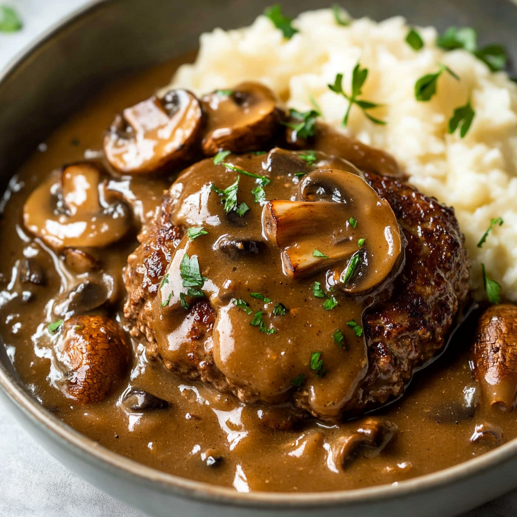
M0 69L56 20L86 0L11 0L24 27L0 33ZM461 517L514 517L517 491ZM0 402L0 517L144 517L71 474Z

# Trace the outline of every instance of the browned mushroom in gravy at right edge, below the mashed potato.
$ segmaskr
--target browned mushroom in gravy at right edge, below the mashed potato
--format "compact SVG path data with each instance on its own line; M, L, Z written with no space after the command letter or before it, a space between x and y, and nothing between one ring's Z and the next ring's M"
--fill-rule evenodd
M517 402L517 306L494 305L479 318L474 372L484 401L511 411Z

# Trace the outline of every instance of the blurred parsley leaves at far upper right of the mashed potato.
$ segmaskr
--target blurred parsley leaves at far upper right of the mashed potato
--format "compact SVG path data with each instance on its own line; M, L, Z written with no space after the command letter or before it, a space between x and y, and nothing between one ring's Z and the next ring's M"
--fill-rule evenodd
M436 40L436 44L445 50L466 50L474 54L492 72L503 70L508 60L508 55L503 45L492 43L478 49L477 34L472 27L449 27Z

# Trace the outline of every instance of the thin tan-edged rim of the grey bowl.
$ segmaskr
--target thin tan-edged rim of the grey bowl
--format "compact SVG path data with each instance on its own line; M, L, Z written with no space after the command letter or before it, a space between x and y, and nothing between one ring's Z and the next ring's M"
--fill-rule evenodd
M12 57L6 67L0 72L0 87L16 71L23 67L42 45L68 26L92 13L96 9L122 0L89 0L81 7L73 9L66 16L60 18L47 30L41 33ZM515 1L515 0L514 0ZM511 3L511 2L510 2ZM458 481L466 481L483 472L490 470L498 464L517 457L517 438L514 438L500 447L488 451L476 458L467 460L446 469L438 470L431 474L425 474L413 479L369 486L361 489L349 489L332 492L237 492L225 486L212 485L202 481L194 481L180 476L167 474L152 467L148 467L134 460L117 454L110 449L87 438L75 429L59 420L24 387L15 376L6 368L0 360L0 389L4 391L8 399L21 409L25 417L28 417L40 428L44 428L48 434L57 436L62 442L71 447L75 456L81 455L84 461L101 464L101 468L110 467L118 472L138 478L140 482L153 483L155 488L162 492L173 493L186 499L206 501L218 505L230 505L236 507L255 508L332 508L363 503L381 502L402 498L404 496L417 495L443 488Z

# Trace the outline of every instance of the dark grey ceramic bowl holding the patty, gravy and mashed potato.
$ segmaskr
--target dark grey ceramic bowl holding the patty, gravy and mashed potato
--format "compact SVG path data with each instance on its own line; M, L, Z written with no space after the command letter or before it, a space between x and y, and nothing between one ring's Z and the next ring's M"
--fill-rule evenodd
M0 77L0 186L24 158L94 92L128 71L197 45L215 26L249 24L271 0L103 0L62 21ZM509 0L341 0L353 16L410 23L470 25L481 43L501 42L517 59L517 8ZM285 0L296 14L327 7ZM0 188L0 191L3 191ZM517 486L517 440L461 465L398 485L312 494L251 493L159 472L111 452L47 412L20 382L0 346L0 394L23 427L72 472L150 515L447 517Z

